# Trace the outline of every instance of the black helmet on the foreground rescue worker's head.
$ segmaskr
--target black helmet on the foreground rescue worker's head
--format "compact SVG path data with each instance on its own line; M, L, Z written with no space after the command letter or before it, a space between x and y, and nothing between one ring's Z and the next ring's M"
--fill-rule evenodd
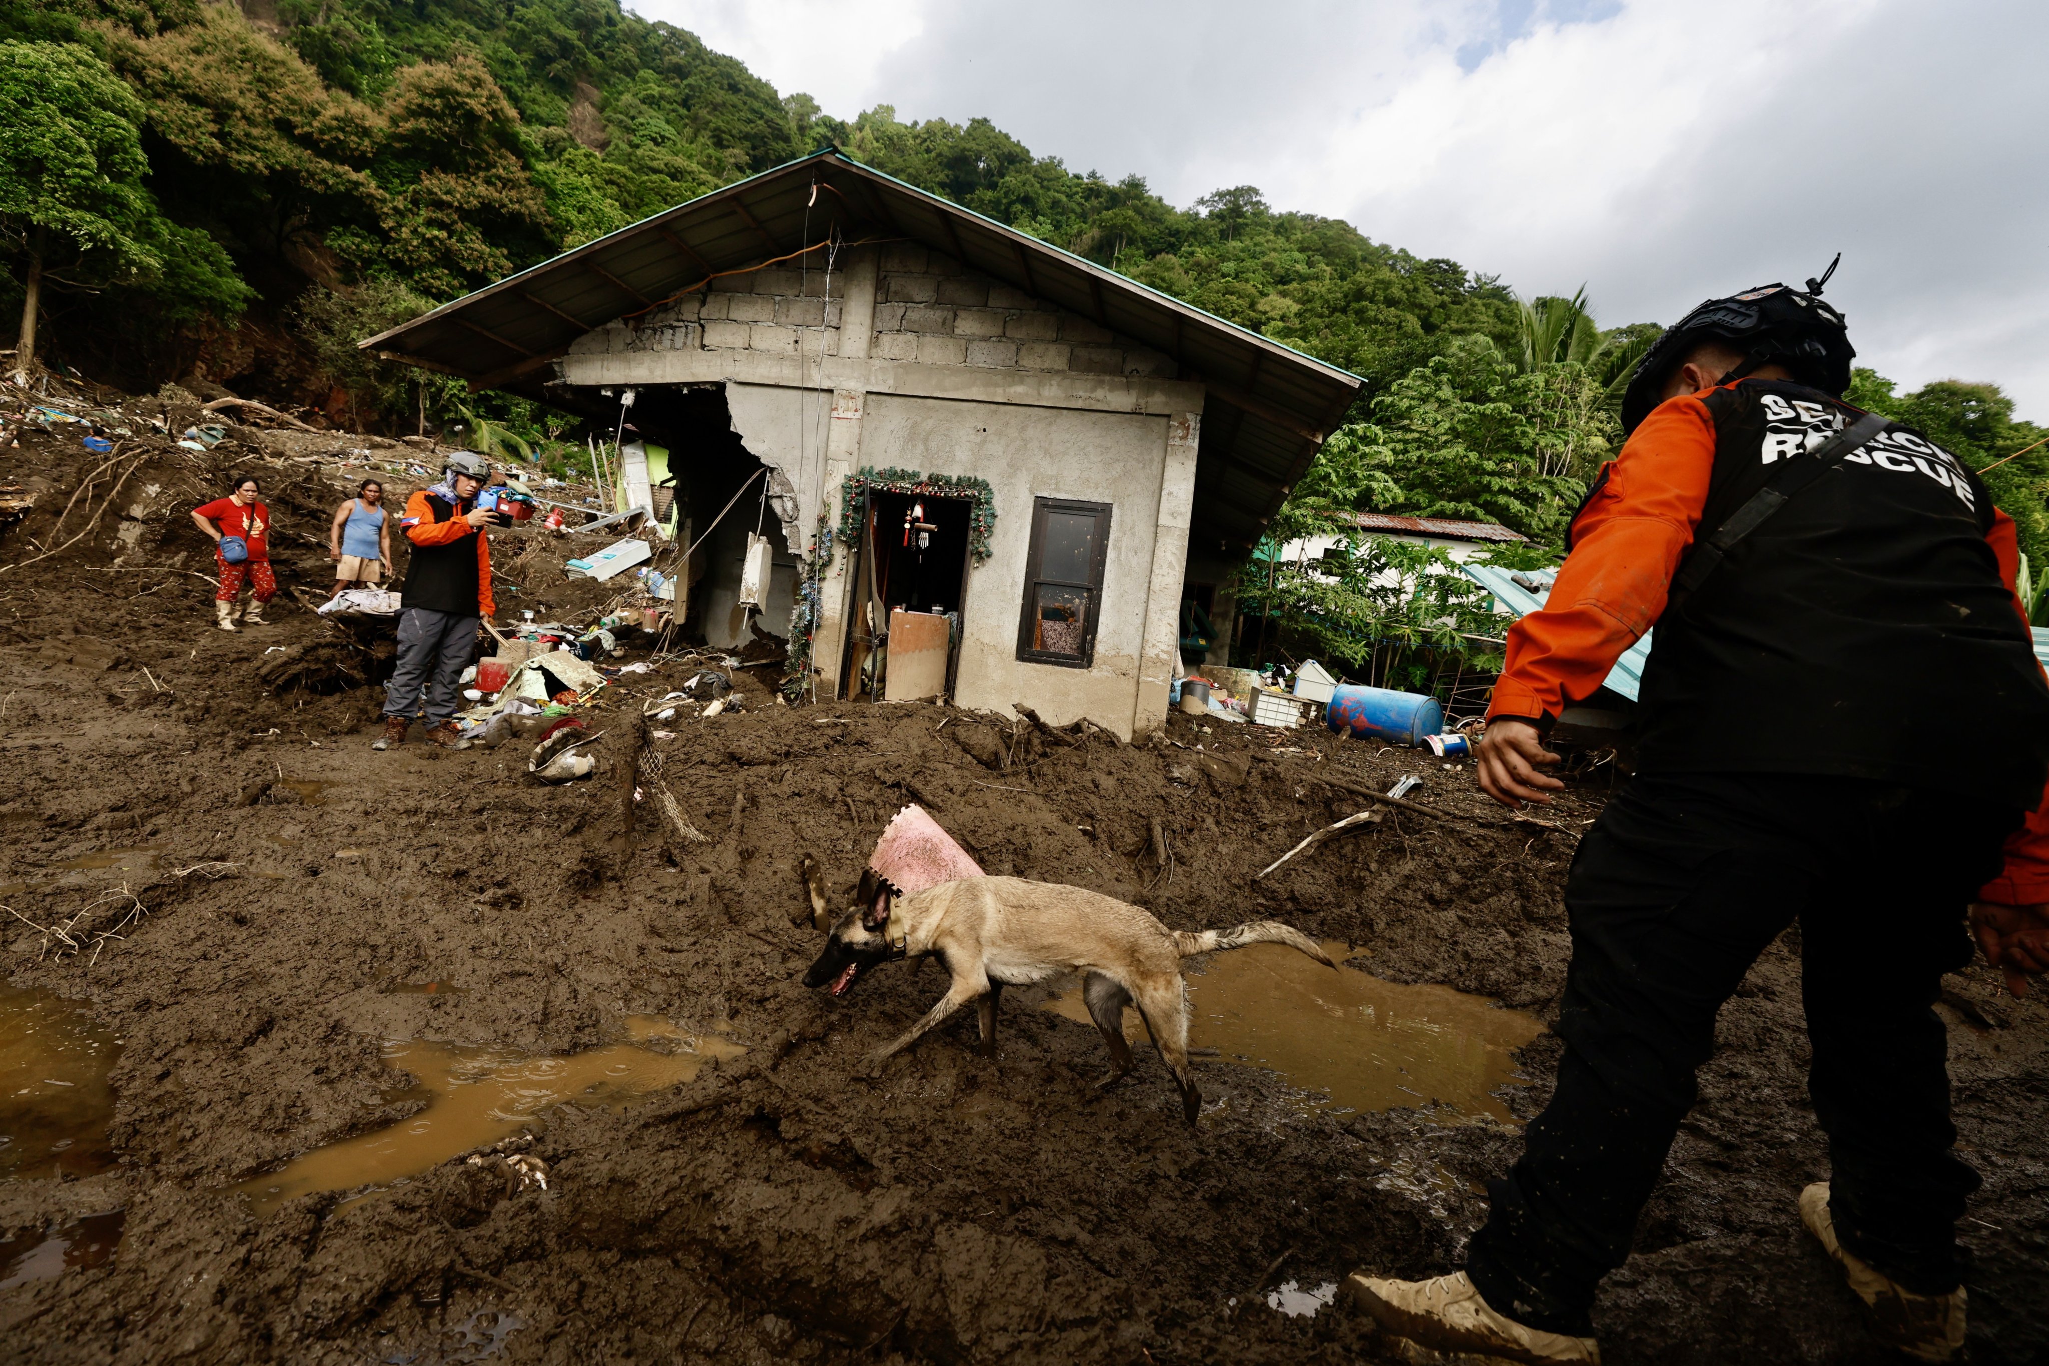
M1840 256L1836 260L1842 260ZM1842 313L1822 303L1822 285L1836 272L1830 262L1822 279L1807 281L1805 293L1785 285L1760 285L1727 299L1709 299L1668 328L1643 352L1637 373L1623 393L1623 434L1637 430L1658 408L1666 379L1701 342L1731 342L1744 352L1744 362L1723 375L1742 379L1764 365L1783 365L1797 383L1842 397L1850 387L1850 360L1856 348L1842 324Z

